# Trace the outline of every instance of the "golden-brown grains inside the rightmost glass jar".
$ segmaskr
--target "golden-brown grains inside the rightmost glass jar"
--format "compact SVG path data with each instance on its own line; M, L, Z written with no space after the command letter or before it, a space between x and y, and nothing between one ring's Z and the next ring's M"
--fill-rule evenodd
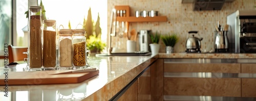
M75 66L86 65L86 42L78 42L73 44L74 54L73 63Z

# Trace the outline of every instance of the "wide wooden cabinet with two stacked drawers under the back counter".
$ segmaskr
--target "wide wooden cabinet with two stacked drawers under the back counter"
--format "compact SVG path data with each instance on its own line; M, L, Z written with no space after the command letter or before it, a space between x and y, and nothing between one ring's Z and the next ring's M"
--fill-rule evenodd
M206 95L241 97L240 63L191 63L164 60L164 96Z

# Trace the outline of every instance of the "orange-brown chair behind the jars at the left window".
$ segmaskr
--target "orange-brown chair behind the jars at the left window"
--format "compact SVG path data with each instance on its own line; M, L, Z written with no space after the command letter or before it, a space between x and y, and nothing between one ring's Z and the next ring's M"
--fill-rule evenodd
M20 46L8 46L8 59L9 63L24 61L24 58L28 58L27 54L23 54L23 52L27 52L28 47L20 47Z

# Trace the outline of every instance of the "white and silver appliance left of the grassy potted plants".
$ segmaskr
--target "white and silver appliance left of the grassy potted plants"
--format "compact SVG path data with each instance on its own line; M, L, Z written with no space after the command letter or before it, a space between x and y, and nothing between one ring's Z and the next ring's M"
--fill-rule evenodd
M151 52L149 45L152 43L150 39L151 30L140 30L139 46L141 52Z

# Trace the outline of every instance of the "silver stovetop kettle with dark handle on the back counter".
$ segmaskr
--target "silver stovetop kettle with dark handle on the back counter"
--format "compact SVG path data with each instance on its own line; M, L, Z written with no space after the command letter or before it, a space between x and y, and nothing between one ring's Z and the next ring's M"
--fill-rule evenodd
M197 38L195 37L195 34L197 34L199 36L198 31L188 31L187 34L187 40L186 40L186 52L201 52L200 48L201 48L201 40L203 40L203 38ZM192 35L192 36L189 36Z

